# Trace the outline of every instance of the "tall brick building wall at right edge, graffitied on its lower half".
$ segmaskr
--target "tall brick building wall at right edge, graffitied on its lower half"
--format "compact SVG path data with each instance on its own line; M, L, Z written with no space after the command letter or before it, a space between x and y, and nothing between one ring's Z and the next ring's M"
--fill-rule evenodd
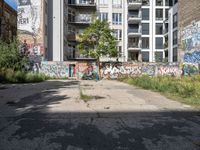
M200 63L200 1L180 0L178 51L180 61Z

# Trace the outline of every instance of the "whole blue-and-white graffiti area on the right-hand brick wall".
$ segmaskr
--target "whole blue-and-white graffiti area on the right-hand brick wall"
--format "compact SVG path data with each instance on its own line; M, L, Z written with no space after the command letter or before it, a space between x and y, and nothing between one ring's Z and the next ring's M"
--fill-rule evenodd
M181 38L185 51L184 62L192 64L200 63L200 21L184 28Z

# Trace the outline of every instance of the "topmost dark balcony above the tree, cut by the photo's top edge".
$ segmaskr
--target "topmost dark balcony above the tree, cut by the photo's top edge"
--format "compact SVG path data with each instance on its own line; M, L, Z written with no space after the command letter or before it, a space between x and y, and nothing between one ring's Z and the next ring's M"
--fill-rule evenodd
M74 8L96 9L96 3L94 0L75 1L74 3L69 3L68 6Z

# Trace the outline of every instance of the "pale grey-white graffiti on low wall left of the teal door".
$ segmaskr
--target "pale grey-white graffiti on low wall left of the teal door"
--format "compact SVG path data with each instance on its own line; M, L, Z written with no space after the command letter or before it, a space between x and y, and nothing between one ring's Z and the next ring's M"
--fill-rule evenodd
M53 78L68 78L69 64L64 62L42 62L40 72Z

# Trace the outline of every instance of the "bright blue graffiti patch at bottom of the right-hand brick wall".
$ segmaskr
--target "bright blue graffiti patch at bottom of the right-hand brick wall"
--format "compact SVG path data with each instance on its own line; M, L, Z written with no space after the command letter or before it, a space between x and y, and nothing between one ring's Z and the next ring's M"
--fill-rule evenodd
M184 55L184 62L192 64L200 63L200 51L195 51L193 53L186 53Z

